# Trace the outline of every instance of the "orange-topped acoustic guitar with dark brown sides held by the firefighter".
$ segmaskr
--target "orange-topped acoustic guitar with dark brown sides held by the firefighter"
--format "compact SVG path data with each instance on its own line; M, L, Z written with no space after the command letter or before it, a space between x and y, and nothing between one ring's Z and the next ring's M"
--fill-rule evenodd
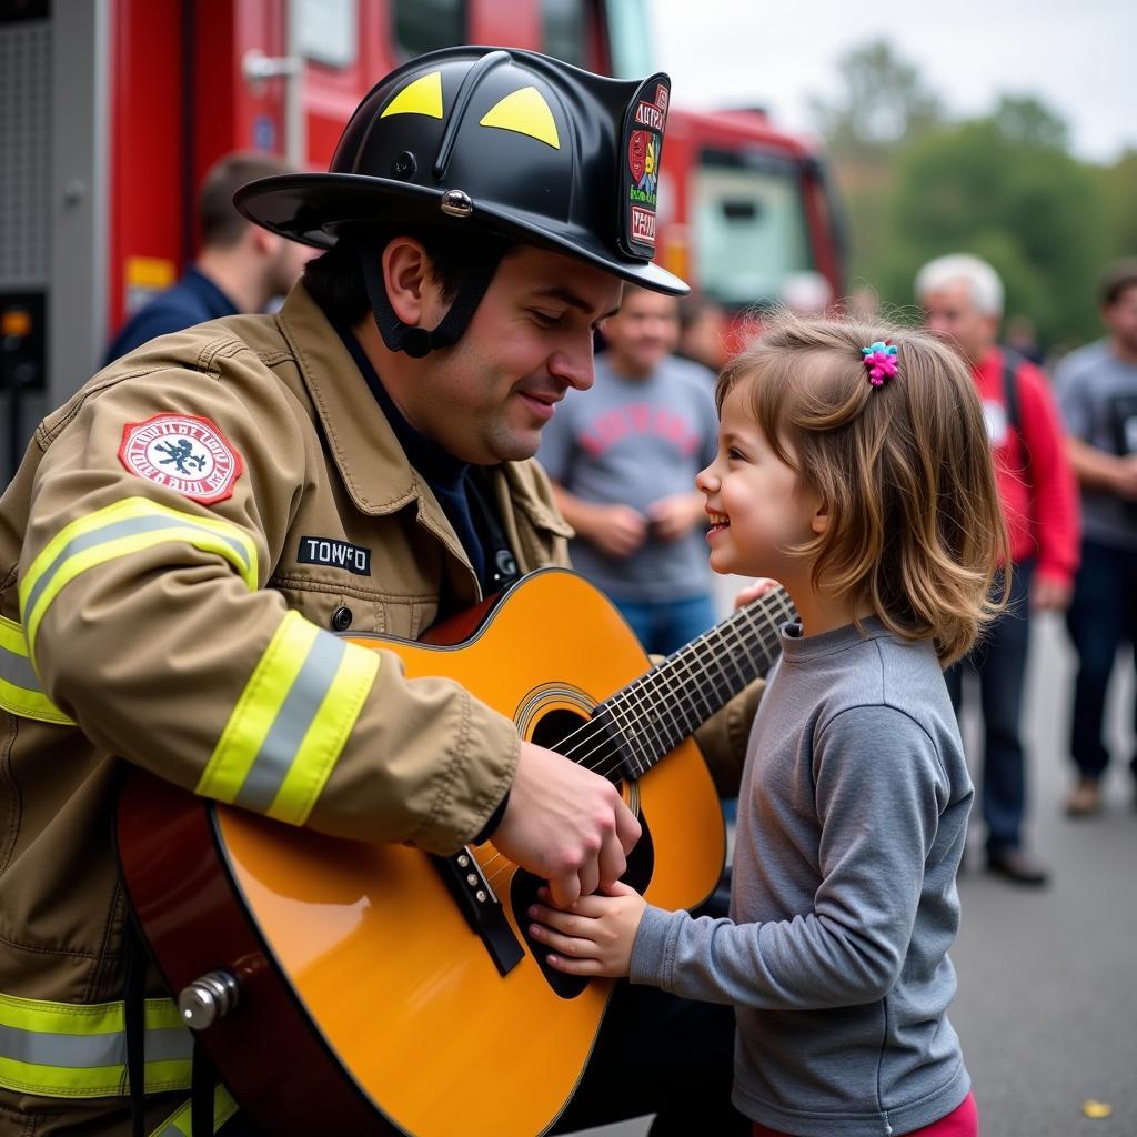
M791 619L779 589L652 667L600 592L551 568L430 642L349 638L611 779L644 829L624 879L681 908L714 890L725 847L690 736L766 672ZM545 964L525 918L540 881L492 843L435 857L341 840L141 772L118 841L166 982L267 1132L536 1137L571 1098L612 981Z

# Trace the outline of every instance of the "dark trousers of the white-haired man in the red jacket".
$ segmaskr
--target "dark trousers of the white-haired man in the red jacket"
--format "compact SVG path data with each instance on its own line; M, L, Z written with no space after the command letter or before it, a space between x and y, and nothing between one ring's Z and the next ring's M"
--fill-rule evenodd
M1029 594L1034 567L1032 561L1014 566L1006 608L989 625L978 647L944 673L956 714L962 703L964 669L979 679L984 715L982 814L988 854L1019 848L1022 844L1027 775L1020 723L1030 646Z

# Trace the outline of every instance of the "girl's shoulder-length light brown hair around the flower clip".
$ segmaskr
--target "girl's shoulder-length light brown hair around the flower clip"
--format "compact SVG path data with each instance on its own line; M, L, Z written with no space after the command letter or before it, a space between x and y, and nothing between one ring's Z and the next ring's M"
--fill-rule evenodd
M861 348L897 346L897 374L869 382ZM719 380L738 389L779 458L827 504L798 547L813 584L868 603L887 628L932 639L946 665L1005 604L1006 526L976 384L928 332L775 313Z

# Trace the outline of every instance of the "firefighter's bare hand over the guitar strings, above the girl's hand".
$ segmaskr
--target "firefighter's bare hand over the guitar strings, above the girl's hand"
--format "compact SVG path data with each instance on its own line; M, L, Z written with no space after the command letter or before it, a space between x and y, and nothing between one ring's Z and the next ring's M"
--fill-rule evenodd
M509 804L492 841L511 861L549 882L568 907L619 880L640 824L615 786L568 758L521 744Z

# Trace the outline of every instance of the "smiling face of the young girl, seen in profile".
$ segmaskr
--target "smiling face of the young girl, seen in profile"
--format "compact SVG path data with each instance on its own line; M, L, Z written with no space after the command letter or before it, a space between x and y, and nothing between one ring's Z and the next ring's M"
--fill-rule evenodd
M790 549L824 528L824 512L797 471L774 454L750 412L746 382L723 401L719 454L696 485L706 497L715 572L772 576L787 586L807 579L812 558Z

